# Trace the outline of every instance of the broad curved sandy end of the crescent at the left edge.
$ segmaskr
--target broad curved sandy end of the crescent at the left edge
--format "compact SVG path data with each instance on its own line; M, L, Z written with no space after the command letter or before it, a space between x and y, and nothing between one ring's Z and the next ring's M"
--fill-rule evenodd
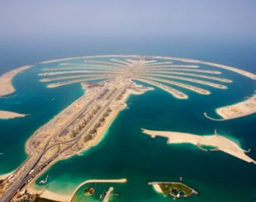
M31 67L33 66L21 66L17 69L8 71L7 73L3 74L0 77L0 97L15 92L15 88L12 86L12 78L15 77L16 74L20 73L21 71L24 71Z

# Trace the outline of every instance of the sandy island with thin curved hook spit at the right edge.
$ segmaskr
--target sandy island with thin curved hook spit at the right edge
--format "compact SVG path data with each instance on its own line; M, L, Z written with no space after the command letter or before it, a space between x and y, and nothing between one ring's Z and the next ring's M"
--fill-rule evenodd
M205 112L204 115L210 120L222 121L222 120L232 120L239 117L245 117L250 114L256 113L256 95L252 96L246 101L238 102L237 104L232 104L229 106L223 106L216 109L217 114L222 117L222 119L215 119L209 117Z

